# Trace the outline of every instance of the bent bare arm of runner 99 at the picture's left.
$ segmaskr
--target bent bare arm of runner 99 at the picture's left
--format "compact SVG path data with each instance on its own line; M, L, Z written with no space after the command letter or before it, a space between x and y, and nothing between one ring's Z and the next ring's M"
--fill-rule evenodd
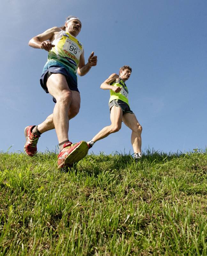
M42 34L34 36L32 39L29 40L29 46L37 49L44 49L45 51L49 52L54 44L51 44L51 41L54 40L55 34L57 34L61 29L58 27L49 28ZM49 41L48 41L49 40Z

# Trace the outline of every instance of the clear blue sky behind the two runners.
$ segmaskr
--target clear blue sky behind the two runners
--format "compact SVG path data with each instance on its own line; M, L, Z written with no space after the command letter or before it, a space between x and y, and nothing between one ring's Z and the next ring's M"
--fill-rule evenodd
M81 19L78 39L85 59L92 51L96 67L78 78L81 109L70 121L69 139L91 139L110 124L109 91L100 84L123 65L132 67L127 81L130 107L142 124L142 150L186 152L207 146L207 2L10 0L1 2L0 150L23 151L27 125L40 124L54 103L39 78L47 52L28 41L61 26L68 15ZM133 153L131 131L96 142L95 154ZM54 151L55 131L42 134L38 150ZM91 152L92 152L91 151Z

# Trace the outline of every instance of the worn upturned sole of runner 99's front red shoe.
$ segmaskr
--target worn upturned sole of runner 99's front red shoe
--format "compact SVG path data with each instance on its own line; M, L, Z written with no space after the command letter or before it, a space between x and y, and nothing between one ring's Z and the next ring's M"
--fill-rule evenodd
M64 163L58 165L59 168L71 167L74 163L78 163L83 157L88 154L88 144L86 141L81 141L81 143L73 149L73 151L65 158Z

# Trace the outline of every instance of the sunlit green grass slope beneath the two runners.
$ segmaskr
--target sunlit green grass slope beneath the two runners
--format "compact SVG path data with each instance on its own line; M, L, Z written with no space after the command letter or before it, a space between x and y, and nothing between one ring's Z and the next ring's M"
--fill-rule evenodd
M0 255L207 255L207 153L0 154Z

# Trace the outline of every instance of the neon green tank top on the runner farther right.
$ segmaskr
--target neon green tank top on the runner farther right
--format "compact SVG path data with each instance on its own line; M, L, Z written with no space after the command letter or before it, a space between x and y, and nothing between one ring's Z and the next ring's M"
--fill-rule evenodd
M119 86L122 88L121 88L120 92L114 92L113 90L110 90L111 97L109 99L109 102L111 102L112 100L122 100L122 101L126 102L127 105L129 106L127 85L124 83L124 81L121 79L121 77L119 76L119 80L116 82L112 82L110 85Z

